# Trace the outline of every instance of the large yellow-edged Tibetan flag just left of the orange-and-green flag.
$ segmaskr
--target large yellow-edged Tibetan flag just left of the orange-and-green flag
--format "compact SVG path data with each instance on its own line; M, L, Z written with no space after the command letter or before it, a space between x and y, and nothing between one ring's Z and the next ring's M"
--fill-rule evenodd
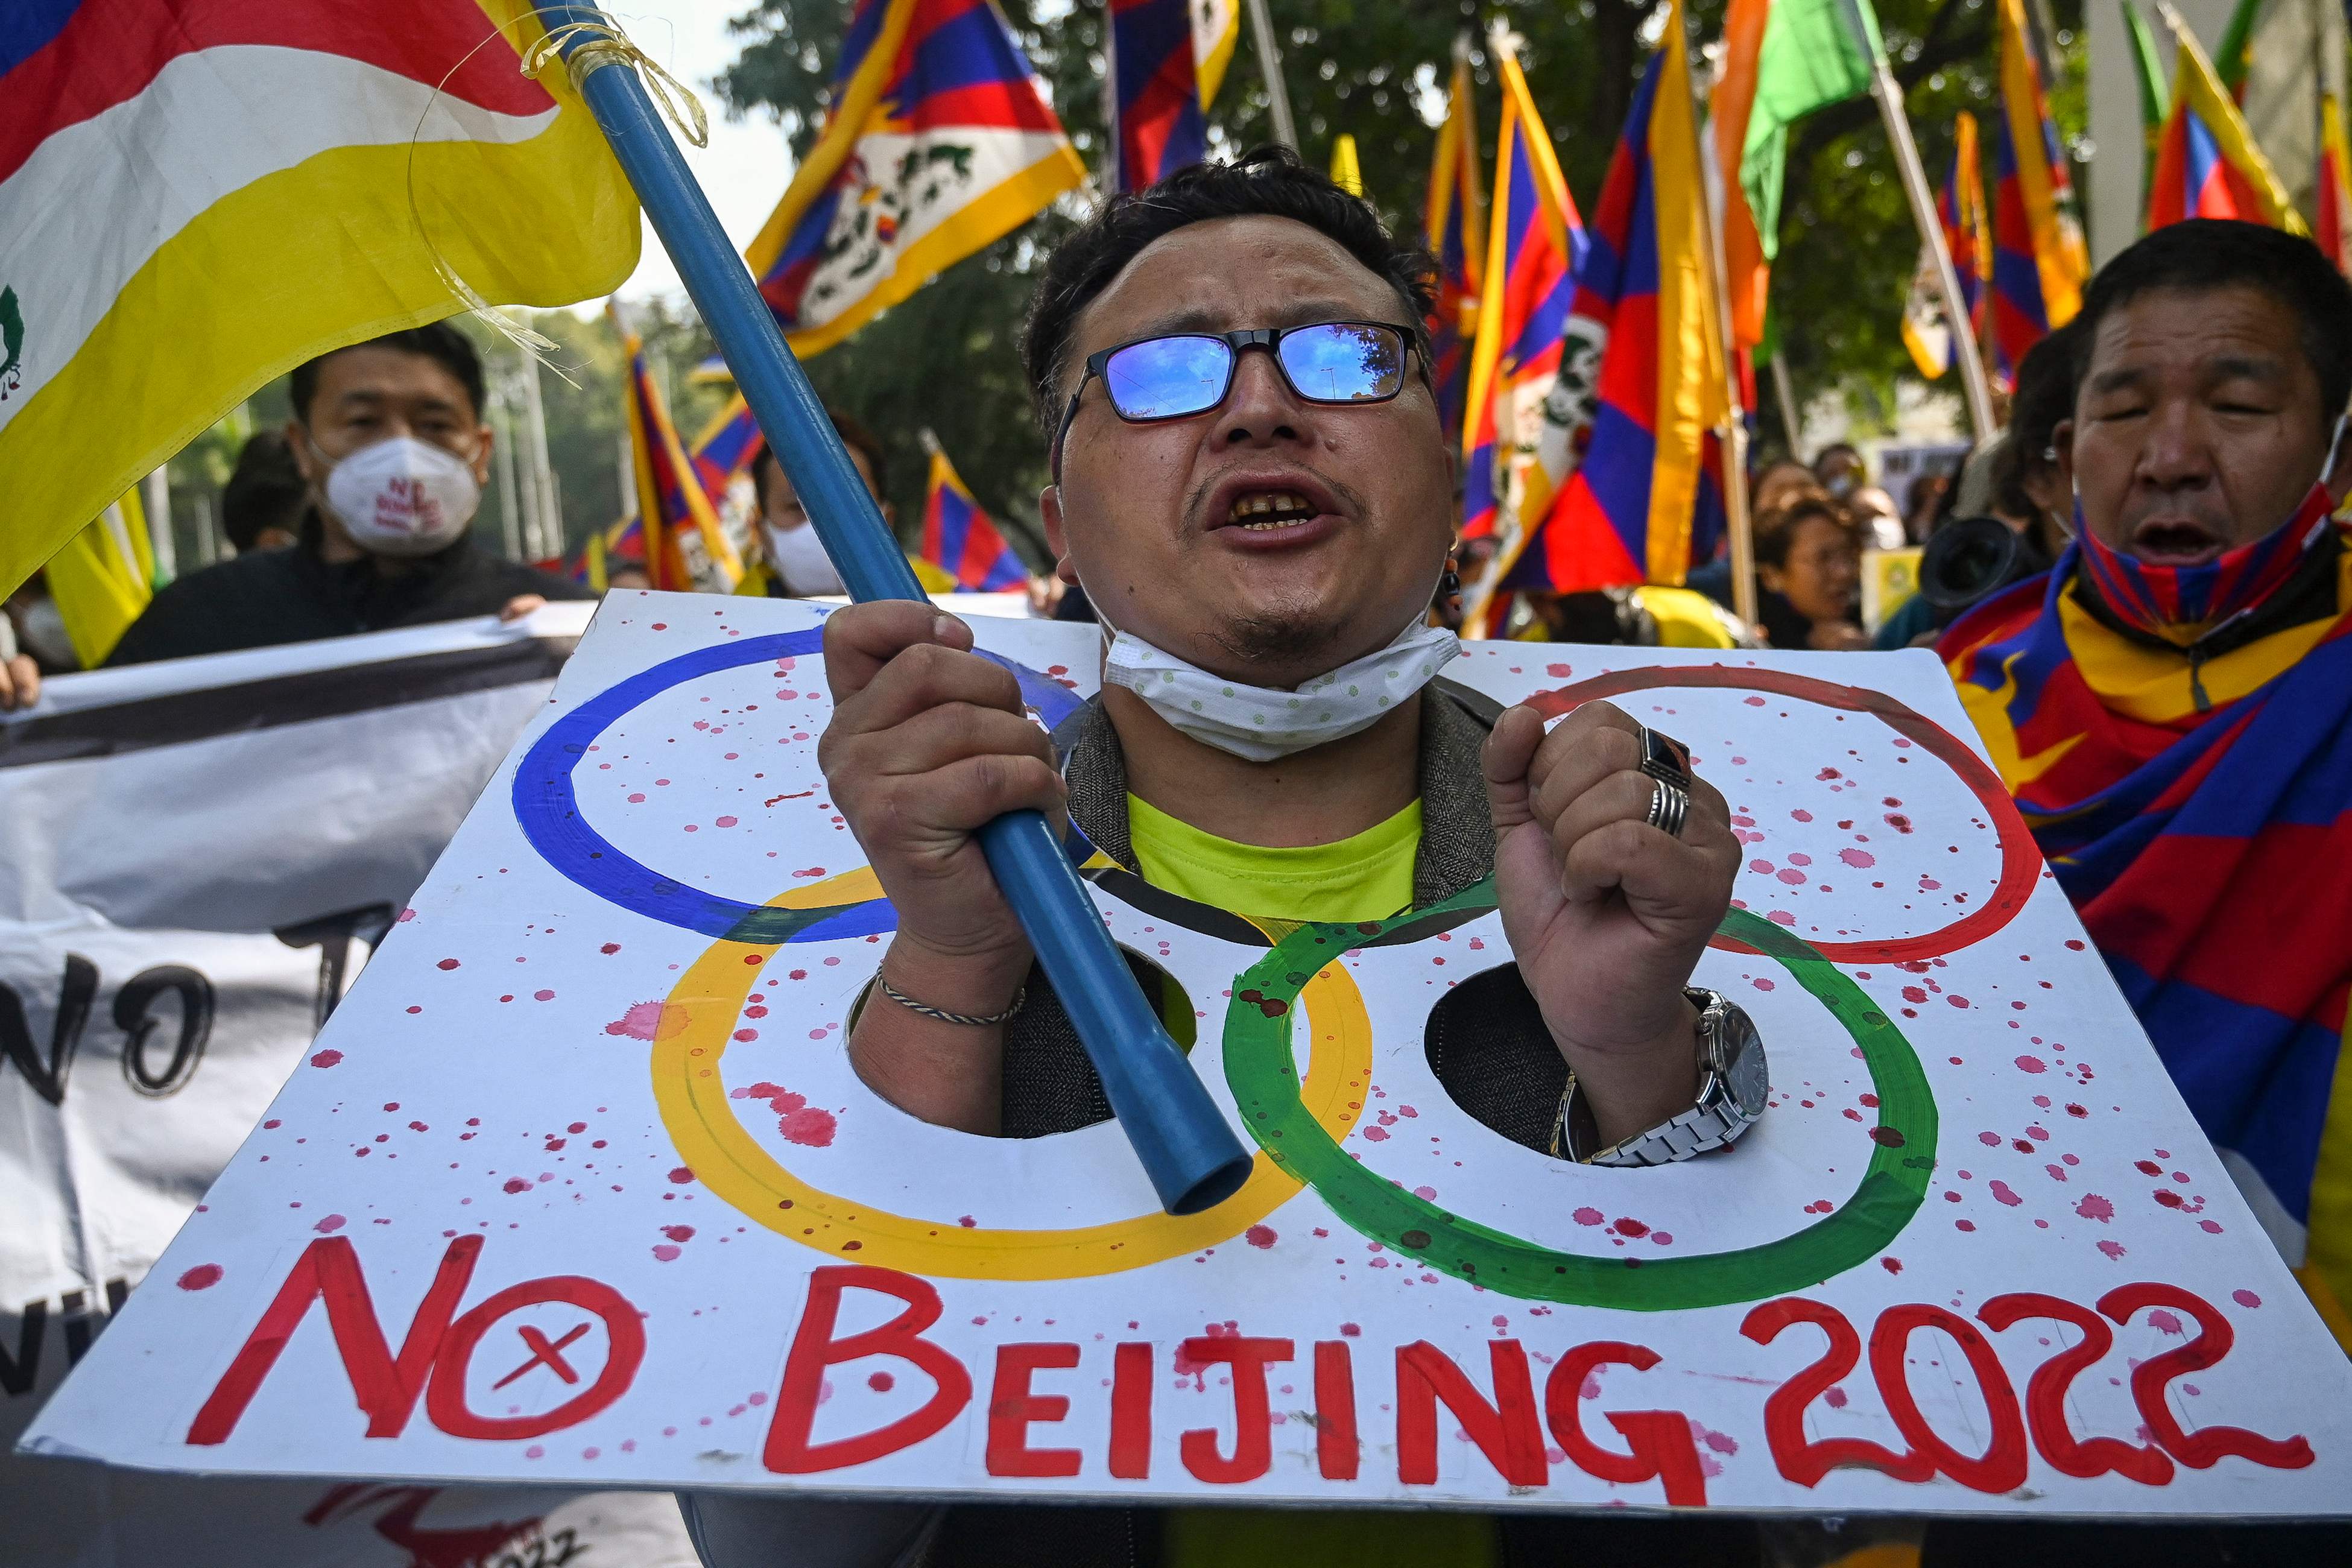
M1517 559L1501 571L1505 592L1679 585L1722 534L1715 433L1731 388L1689 71L1677 0L1576 273L1571 355L1592 369L1566 364L1559 378L1581 381L1592 409L1585 451L1550 512L1526 512Z

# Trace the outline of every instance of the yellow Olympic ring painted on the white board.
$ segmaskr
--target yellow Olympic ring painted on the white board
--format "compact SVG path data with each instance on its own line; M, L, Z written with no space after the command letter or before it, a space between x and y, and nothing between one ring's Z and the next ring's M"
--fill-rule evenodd
M795 889L771 903L807 900L814 893L816 889ZM755 954L757 964L746 961ZM717 940L689 964L663 1004L652 1067L661 1124L696 1180L779 1237L908 1274L1089 1279L1232 1241L1303 1185L1261 1150L1242 1190L1216 1208L1183 1218L1152 1211L1075 1229L967 1229L884 1213L811 1187L776 1164L743 1128L720 1077L743 999L774 954L771 945ZM1341 1143L1364 1114L1364 1091L1371 1086L1364 992L1334 959L1308 980L1301 1001L1317 1030L1315 1053L1298 1086L1301 1100L1331 1140ZM675 1018L682 1025L670 1027L668 1020Z

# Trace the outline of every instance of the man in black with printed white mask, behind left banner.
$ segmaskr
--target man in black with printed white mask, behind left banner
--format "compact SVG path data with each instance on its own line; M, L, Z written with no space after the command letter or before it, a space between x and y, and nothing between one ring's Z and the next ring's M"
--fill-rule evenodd
M299 367L287 447L313 496L301 538L179 578L108 663L513 618L543 599L595 597L468 543L489 477L482 395L480 355L445 322Z

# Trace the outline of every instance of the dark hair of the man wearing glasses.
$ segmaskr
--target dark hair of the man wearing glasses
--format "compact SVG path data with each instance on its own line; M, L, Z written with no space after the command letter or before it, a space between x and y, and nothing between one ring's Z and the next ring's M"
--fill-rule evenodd
M1437 303L1437 263L1428 252L1397 242L1381 216L1348 195L1289 148L1258 148L1237 162L1197 162L1157 186L1127 190L1054 247L1030 320L1021 339L1037 404L1037 428L1047 440L1061 425L1061 381L1073 369L1070 339L1080 313L1127 270L1152 240L1211 219L1291 219L1334 240L1397 294L1404 324L1414 329L1423 378L1430 364L1428 315ZM1263 322L1261 322L1263 324Z

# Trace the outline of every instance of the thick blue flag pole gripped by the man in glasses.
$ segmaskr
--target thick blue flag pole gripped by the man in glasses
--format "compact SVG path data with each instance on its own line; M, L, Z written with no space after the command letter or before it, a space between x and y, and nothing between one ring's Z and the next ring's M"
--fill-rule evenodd
M541 5L539 19L548 33L572 26L557 38L564 66L677 263L694 308L717 339L743 402L807 505L849 597L927 599L644 82L626 54L604 42L619 28L588 5ZM978 837L988 870L1070 1013L1160 1206L1200 1213L1223 1204L1249 1180L1249 1154L1143 1001L1054 830L1035 811L1007 811Z

